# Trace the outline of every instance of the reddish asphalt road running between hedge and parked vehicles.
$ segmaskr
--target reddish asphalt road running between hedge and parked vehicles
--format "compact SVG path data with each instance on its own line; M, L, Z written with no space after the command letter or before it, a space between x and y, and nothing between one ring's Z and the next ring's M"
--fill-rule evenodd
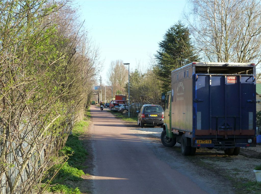
M91 114L94 193L221 192L213 189L211 182L215 180L205 183L205 179L192 173L193 167L186 159L175 160L173 154L166 153L169 148L160 141L135 134L121 120L97 106L91 106ZM216 188L219 187L222 185Z

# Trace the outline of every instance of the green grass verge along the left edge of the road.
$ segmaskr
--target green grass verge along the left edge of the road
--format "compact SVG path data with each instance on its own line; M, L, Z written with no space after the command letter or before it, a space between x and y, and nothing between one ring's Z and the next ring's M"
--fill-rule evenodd
M72 135L68 136L66 146L60 150L61 155L68 156L68 160L64 164L57 164L53 166L49 174L54 174L58 169L56 177L52 180L48 188L49 192L63 193L63 194L81 194L75 184L82 180L81 176L85 173L82 171L87 168L84 162L87 159L88 152L85 150L79 136L84 133L84 128L89 126L90 110L86 112L84 120L77 122L73 128Z

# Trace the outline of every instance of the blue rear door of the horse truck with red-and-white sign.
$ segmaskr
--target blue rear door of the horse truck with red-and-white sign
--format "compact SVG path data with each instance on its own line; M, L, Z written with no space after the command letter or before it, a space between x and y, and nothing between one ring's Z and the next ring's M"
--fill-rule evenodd
M196 74L195 135L254 135L253 75Z

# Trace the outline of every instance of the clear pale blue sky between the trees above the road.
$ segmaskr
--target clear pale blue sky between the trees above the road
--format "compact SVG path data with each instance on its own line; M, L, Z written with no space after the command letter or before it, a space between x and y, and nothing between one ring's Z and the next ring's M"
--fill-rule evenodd
M103 69L114 60L148 66L166 30L182 17L186 1L77 1L80 20L100 48ZM137 61L137 62L136 62ZM102 80L106 83L106 71ZM108 72L108 71L107 71Z

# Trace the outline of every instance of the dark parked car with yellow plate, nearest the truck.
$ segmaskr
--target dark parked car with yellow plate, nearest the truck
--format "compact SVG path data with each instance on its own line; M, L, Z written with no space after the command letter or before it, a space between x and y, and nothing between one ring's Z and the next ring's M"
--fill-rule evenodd
M143 105L137 112L139 113L137 124L140 127L144 127L144 125L163 127L164 111L160 105Z

